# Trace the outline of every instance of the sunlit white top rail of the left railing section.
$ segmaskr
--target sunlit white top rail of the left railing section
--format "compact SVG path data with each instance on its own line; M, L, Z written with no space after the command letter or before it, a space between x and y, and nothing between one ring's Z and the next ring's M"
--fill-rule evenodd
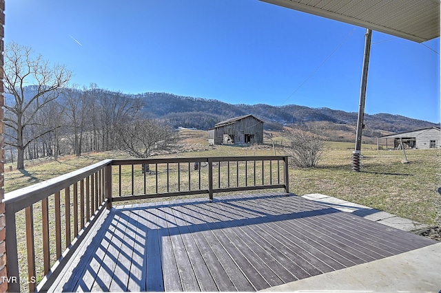
M95 173L99 169L102 169L103 166L111 163L112 160L103 160L96 164L54 177L50 180L45 180L37 184L32 184L31 186L11 191L10 193L5 194L3 202L6 205L13 204L15 211L21 210L31 204L39 202L41 199L44 199L57 191L61 191L61 189L78 182L88 175Z

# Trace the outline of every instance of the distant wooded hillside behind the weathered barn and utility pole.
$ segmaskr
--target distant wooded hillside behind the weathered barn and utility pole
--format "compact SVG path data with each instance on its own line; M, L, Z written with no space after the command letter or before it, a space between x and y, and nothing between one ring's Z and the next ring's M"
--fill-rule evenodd
M333 122L356 125L357 113L348 113L329 108L309 108L298 105L271 106L232 105L218 100L206 100L176 96L166 93L144 93L136 95L145 102L144 112L151 118L161 118L174 127L209 129L214 124L236 116L252 114L265 121L265 129L281 129L285 124L303 122ZM378 135L378 131L400 132L424 127L439 127L428 121L407 118L400 115L378 113L365 114L366 134Z

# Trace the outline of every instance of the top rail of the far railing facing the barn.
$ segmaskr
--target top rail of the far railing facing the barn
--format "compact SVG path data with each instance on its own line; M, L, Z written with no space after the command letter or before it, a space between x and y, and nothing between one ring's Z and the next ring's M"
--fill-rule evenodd
M236 161L261 161L261 160L283 160L286 155L246 155L231 157L188 157L188 158L150 158L150 159L114 159L112 165L125 164L163 164L182 162L236 162Z

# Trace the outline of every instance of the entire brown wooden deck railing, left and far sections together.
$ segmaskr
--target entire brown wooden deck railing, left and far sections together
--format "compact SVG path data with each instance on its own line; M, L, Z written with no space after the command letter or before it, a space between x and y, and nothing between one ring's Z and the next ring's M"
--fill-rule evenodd
M103 160L6 193L9 290L48 290L112 202L267 188L289 192L286 156Z

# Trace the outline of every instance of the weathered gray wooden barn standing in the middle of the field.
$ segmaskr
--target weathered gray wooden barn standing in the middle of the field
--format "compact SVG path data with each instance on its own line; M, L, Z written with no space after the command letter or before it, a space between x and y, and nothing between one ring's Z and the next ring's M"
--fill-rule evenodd
M231 118L208 131L209 144L263 143L263 120L252 115Z

